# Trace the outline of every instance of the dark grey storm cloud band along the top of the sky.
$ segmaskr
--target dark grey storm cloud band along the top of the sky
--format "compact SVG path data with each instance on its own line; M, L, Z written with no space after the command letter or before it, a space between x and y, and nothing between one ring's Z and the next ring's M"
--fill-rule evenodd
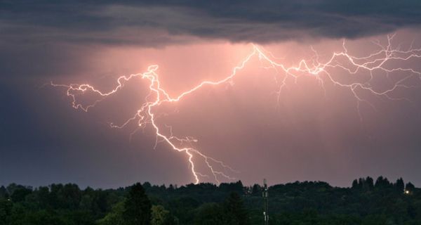
M356 38L416 27L421 1L1 1L4 41L156 46L177 36L229 41ZM168 35L169 34L169 35Z

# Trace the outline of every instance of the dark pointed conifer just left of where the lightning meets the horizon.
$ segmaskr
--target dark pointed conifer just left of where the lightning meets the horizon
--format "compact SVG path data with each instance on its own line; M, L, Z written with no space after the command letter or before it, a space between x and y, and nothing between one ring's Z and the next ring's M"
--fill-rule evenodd
M123 220L127 225L151 224L152 204L140 183L131 186L124 203Z

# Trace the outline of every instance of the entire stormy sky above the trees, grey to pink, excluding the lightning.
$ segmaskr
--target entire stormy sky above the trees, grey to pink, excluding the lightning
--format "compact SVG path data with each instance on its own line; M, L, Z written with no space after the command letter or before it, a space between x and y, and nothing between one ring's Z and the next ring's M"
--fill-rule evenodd
M188 158L152 127L122 124L145 102L144 79L127 82L88 112L72 108L66 88L89 83L109 91L121 75L159 65L164 89L178 96L219 80L253 44L288 66L326 62L333 52L363 57L387 46L421 49L421 1L3 1L0 0L0 185L76 183L114 188L136 181L189 184ZM253 44L252 44L253 43ZM387 67L421 72L417 57ZM341 59L340 59L341 60ZM339 60L339 61L340 61ZM342 59L343 60L343 59ZM341 61L342 62L342 61ZM346 65L346 64L344 64ZM411 74L329 68L343 84L377 91ZM162 129L192 136L194 147L225 162L245 184L320 180L350 186L361 176L403 177L421 186L421 76L389 95L352 91L323 78L288 79L279 94L255 57L232 83L206 86L156 109ZM98 99L79 96L83 104ZM131 135L133 134L133 135ZM203 162L197 168L213 182ZM220 179L221 181L231 181Z

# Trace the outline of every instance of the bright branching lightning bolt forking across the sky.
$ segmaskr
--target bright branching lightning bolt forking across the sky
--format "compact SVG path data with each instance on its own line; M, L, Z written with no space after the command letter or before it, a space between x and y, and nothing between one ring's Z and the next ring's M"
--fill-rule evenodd
M129 82L131 79L135 77L141 77L142 79L146 79L149 82L149 94L145 97L145 103L143 103L138 111L133 115L133 117L128 118L126 122L122 124L110 124L110 127L122 129L126 127L126 125L131 124L132 122L137 122L138 127L145 128L147 125L152 126L154 132L156 134L156 142L154 148L159 143L166 143L170 146L173 150L178 151L180 153L185 153L187 156L187 161L189 163L189 168L191 169L192 176L194 178L194 182L197 184L201 181L201 177L209 177L212 176L215 182L218 184L220 183L220 179L228 179L234 180L233 176L229 174L236 173L235 169L229 167L224 162L220 160L216 160L215 158L211 158L208 155L201 153L197 148L194 148L193 143L196 143L197 140L192 137L178 137L173 134L173 129L171 126L165 125L165 127L159 127L156 123L157 118L159 117L156 114L156 108L163 104L163 103L175 103L178 101L182 101L185 96L194 94L195 91L201 89L203 86L218 86L220 84L233 83L234 77L239 75L239 70L242 70L246 67L247 63L252 59L257 57L260 62L267 63L269 66L264 66L263 68L272 68L276 70L276 77L279 77L279 73L283 73L283 77L279 80L276 78L279 84L279 90L276 91L278 94L278 101L279 97L281 96L281 91L284 86L286 86L286 80L290 77L295 79L295 81L301 77L302 75L309 75L318 79L319 82L322 84L325 82L331 82L335 85L338 85L342 88L349 89L349 92L354 96L356 99L356 106L358 108L360 119L362 120L361 113L360 113L360 104L361 103L368 103L374 108L374 105L371 104L369 101L362 98L359 94L359 91L368 91L373 96L377 97L385 97L389 100L406 100L409 101L407 98L394 98L391 96L393 91L396 89L404 88L410 89L416 87L416 85L408 85L405 82L408 81L411 77L417 77L421 79L421 72L417 71L412 68L389 68L386 64L390 61L395 62L403 62L406 60L410 60L413 58L421 58L421 49L414 49L413 44L407 50L402 50L401 45L396 48L392 46L392 39L394 39L395 34L387 35L387 44L383 46L380 44L380 41L374 41L373 43L379 47L378 51L370 53L368 56L363 57L356 57L352 56L348 53L345 40L342 44L342 51L332 53L331 57L326 60L326 62L320 62L319 54L312 49L314 52L314 57L311 60L300 60L297 65L287 67L286 65L277 62L277 58L273 56L272 53L266 51L261 46L256 44L251 44L252 48L250 53L243 58L239 65L236 65L232 69L231 74L227 75L227 77L215 81L203 81L200 84L194 86L192 89L182 92L178 96L171 96L168 92L162 88L161 82L159 80L159 75L156 73L159 66L158 65L149 65L146 72L137 73L132 75L123 75L116 79L117 85L108 92L100 91L96 89L91 84L54 84L51 82L51 85L64 87L67 89L66 94L72 99L72 107L76 110L83 110L84 112L88 112L90 108L95 107L96 104L100 103L103 99L107 96L111 96L116 94L116 92L120 91L126 82ZM344 63L345 62L345 63ZM366 80L366 82L352 82L350 84L346 84L344 82L338 81L335 79L333 75L329 72L330 69L333 68L340 68L345 70L349 75L356 75L357 72L368 72L370 78ZM383 90L376 90L371 86L370 82L373 80L374 72L380 71L389 75L391 72L405 72L406 75L398 79L394 82L392 87ZM324 89L324 86L323 86ZM325 90L326 91L326 90ZM76 96L83 95L86 93L93 93L98 95L98 99L91 104L83 105L82 103L78 103L76 101ZM137 129L135 130L137 131ZM134 132L131 136L134 134ZM187 146L186 146L187 145ZM206 167L208 168L208 172L203 174L203 172L199 172L195 167L195 161L202 160Z

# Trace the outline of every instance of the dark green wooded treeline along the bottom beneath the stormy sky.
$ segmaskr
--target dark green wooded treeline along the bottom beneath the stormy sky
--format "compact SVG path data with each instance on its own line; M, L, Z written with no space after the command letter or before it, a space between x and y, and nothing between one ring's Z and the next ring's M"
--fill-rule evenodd
M81 190L76 184L0 187L0 225L262 224L262 187L231 184ZM402 179L269 187L269 224L421 224L421 189Z

